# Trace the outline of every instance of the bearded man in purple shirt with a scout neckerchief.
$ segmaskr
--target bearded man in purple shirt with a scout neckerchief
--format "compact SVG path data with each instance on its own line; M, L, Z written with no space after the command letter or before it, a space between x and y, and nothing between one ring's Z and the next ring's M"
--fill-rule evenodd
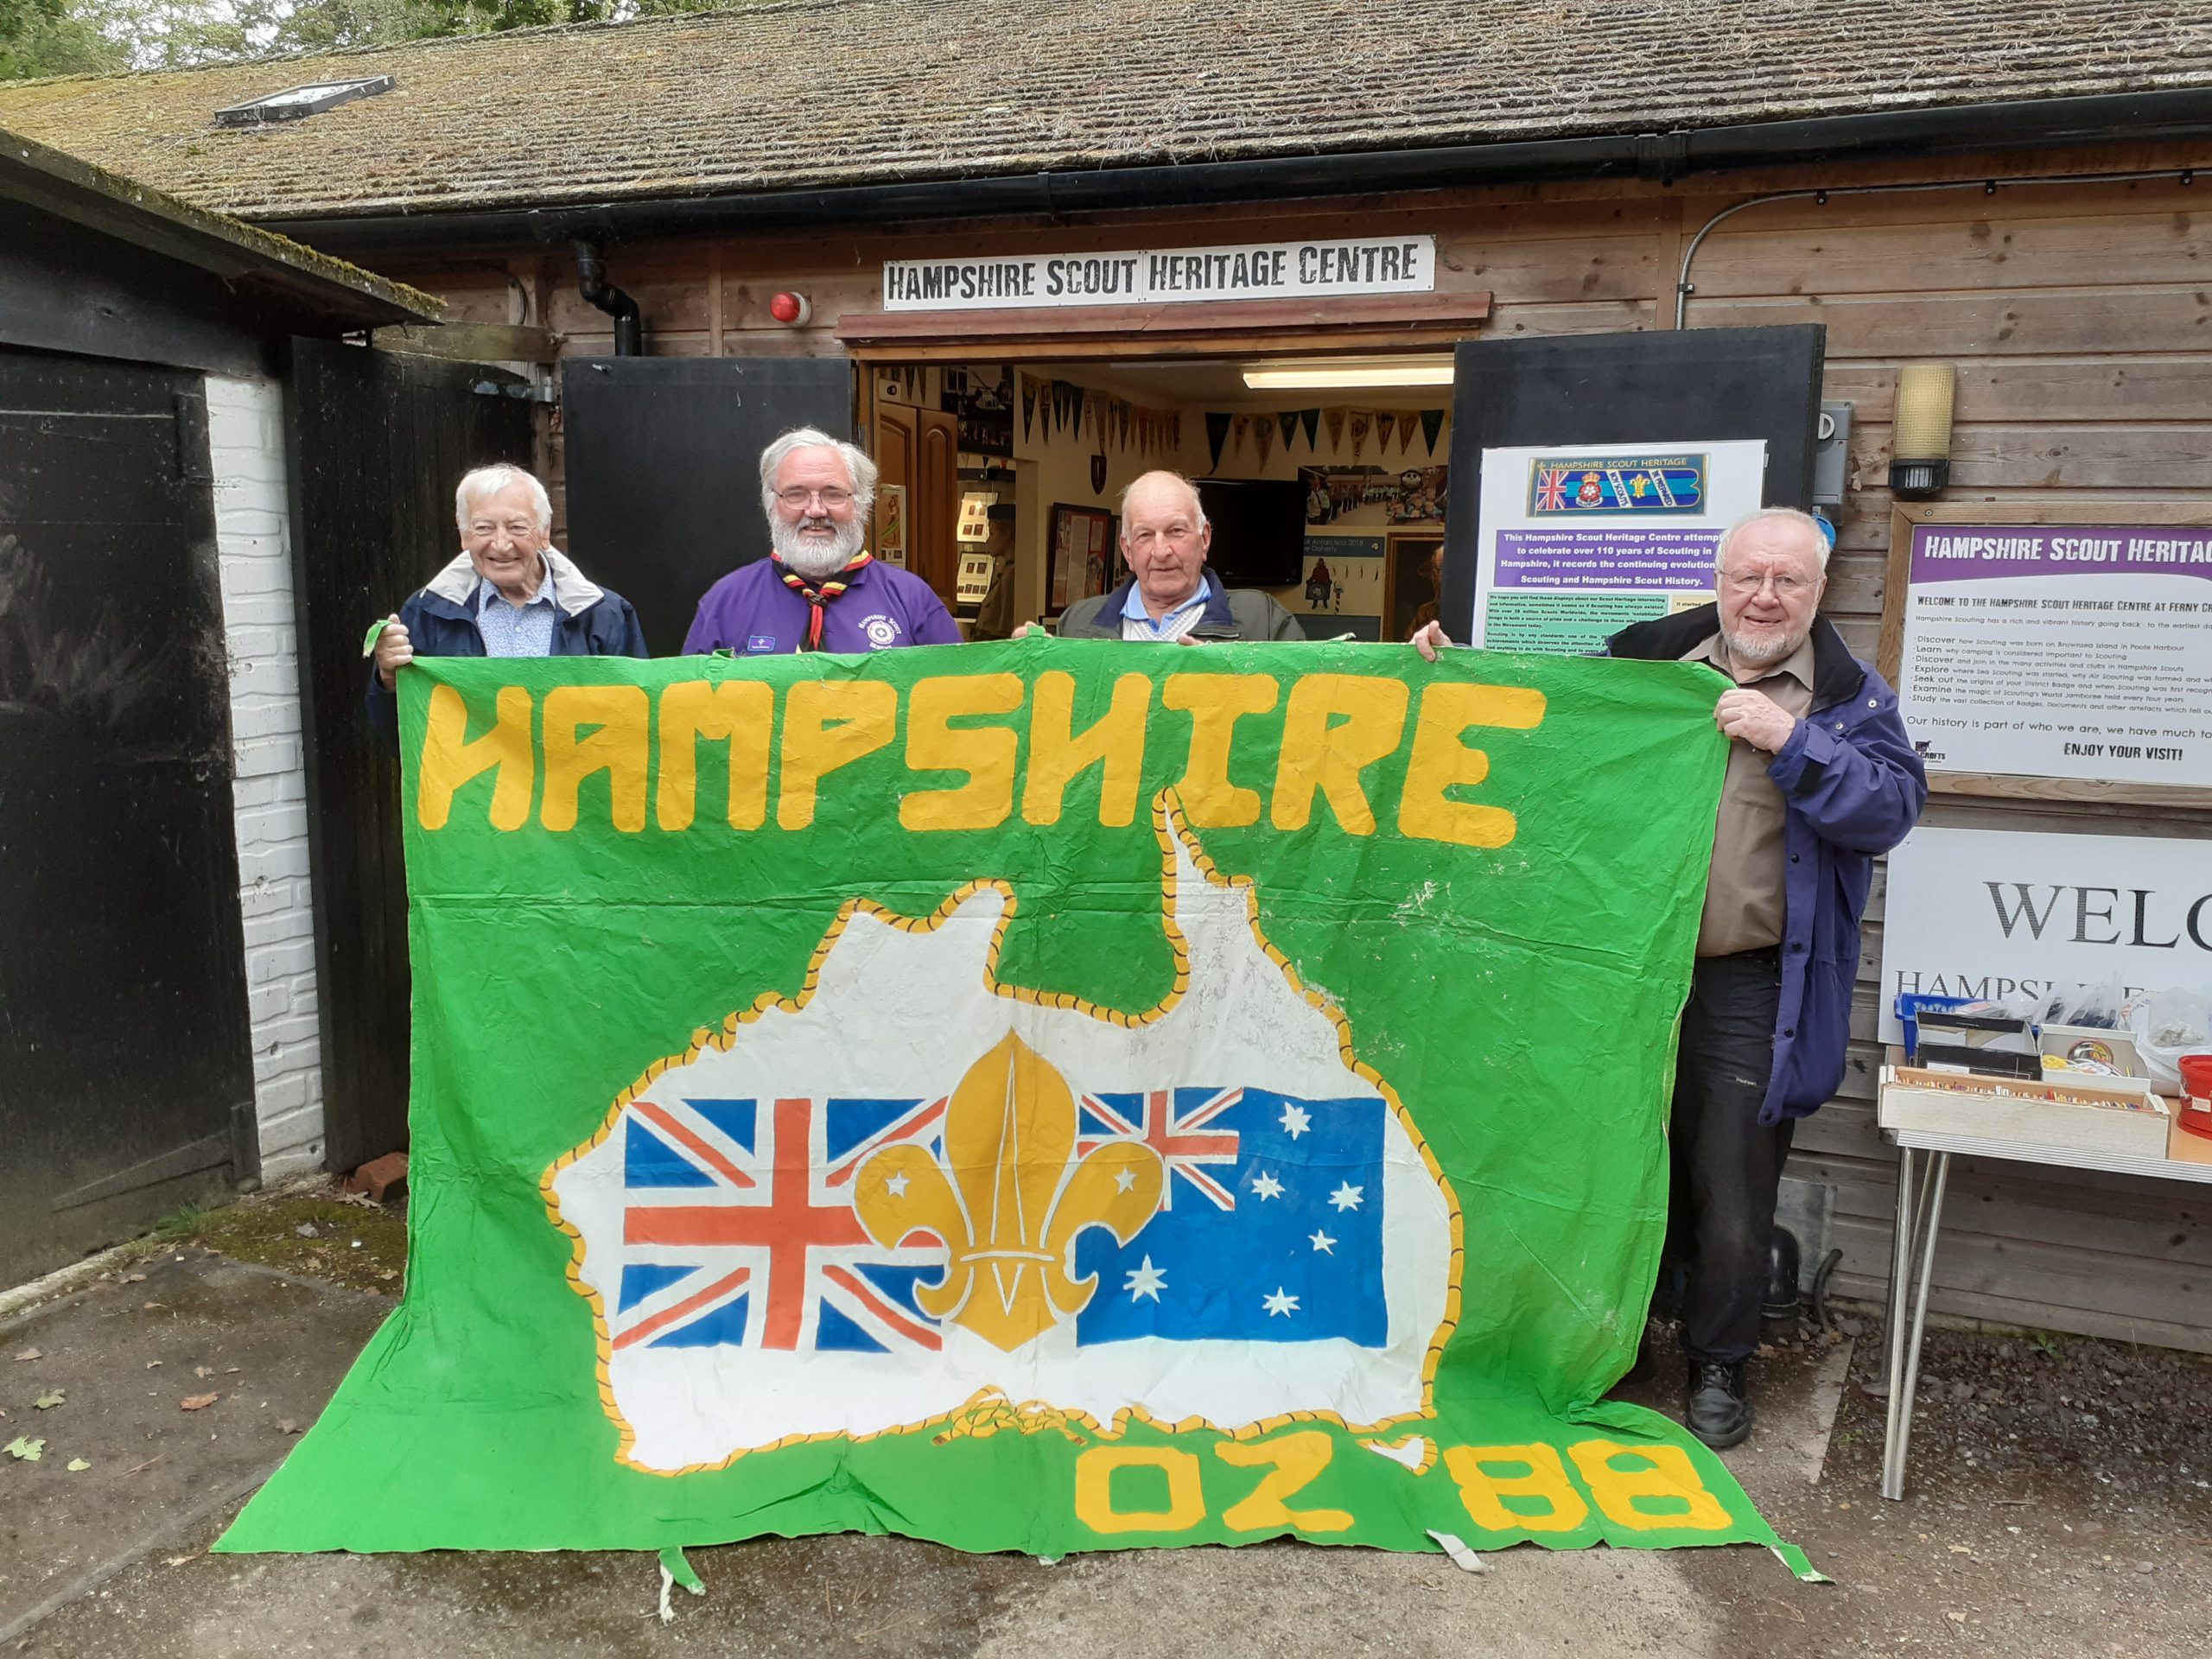
M814 427L761 451L770 555L741 564L699 599L686 653L958 646L960 626L922 577L863 546L876 462Z

